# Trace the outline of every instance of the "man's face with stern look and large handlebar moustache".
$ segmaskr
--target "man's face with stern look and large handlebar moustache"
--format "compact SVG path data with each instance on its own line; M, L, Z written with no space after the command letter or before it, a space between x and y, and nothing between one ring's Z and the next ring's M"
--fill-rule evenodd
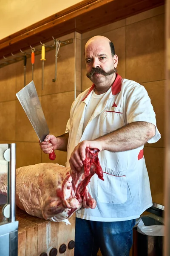
M85 47L87 77L95 83L110 81L116 72L108 41L92 41Z

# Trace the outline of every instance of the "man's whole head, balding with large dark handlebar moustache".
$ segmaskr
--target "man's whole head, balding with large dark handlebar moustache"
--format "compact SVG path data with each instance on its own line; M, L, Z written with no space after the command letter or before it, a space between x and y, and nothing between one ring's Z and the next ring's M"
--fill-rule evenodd
M109 86L115 79L118 57L113 43L105 36L92 37L85 44L86 76L96 86Z

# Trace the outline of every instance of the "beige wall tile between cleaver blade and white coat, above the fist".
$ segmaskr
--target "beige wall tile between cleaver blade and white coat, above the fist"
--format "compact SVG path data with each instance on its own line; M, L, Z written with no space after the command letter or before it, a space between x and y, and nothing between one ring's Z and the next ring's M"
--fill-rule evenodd
M74 91L42 96L42 109L50 134L59 136L65 133L73 101Z

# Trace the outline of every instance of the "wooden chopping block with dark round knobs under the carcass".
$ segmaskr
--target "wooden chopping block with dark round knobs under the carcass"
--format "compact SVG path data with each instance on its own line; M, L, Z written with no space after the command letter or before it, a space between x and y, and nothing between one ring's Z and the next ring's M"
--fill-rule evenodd
M74 241L75 214L69 218L71 225L66 225L33 217L17 208L16 220L19 221L18 256L40 256L41 253L55 256L50 253L52 248L57 249L57 256L74 256L74 249L69 249L68 244ZM59 251L61 245L62 249L66 246L64 253Z

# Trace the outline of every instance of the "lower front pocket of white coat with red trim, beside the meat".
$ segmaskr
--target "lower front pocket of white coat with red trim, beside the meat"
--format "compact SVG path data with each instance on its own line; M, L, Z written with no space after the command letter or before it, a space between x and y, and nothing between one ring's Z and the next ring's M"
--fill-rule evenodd
M105 168L103 178L104 181L98 179L97 199L102 203L124 204L127 201L125 172L115 172Z

